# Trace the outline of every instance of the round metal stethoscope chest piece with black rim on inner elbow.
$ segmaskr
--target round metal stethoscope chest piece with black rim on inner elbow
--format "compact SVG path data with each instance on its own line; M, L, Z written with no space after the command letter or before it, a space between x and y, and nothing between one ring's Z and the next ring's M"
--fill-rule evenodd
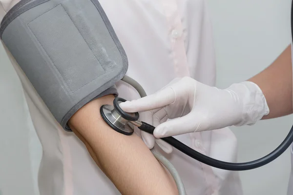
M133 125L128 123L131 120L138 120L139 115L135 113L134 116L125 113L120 107L119 103L126 101L123 98L115 98L112 105L103 105L100 108L100 113L105 122L115 131L130 136L134 132ZM133 115L133 114L132 114Z

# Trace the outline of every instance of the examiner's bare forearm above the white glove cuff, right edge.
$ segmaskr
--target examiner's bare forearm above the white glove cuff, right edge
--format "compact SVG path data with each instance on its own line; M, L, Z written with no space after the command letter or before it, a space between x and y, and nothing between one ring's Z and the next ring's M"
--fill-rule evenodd
M292 60L291 45L261 73L249 79L262 90L270 114L262 119L292 114Z

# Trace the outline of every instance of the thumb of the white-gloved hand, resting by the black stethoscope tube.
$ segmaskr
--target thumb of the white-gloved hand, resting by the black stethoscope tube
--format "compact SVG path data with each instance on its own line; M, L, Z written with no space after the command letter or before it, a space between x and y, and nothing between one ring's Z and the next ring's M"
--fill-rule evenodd
M203 126L200 121L201 120L197 120L194 115L192 116L189 113L184 117L170 119L161 123L155 128L153 135L156 138L161 138L192 133L198 131L199 129L202 131L204 129L202 129Z

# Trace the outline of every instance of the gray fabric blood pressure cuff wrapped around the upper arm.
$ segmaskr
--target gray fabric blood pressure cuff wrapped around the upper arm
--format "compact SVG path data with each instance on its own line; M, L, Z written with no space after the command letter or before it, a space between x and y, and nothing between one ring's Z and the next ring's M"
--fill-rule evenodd
M98 0L21 0L0 38L66 131L87 102L118 95L128 61Z

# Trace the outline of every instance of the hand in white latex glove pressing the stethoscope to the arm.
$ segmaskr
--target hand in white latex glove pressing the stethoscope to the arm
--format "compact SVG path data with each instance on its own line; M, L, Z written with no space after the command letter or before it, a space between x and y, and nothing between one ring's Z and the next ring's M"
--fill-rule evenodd
M253 82L218 89L189 77L177 80L155 94L120 103L120 106L129 113L151 113L148 115L156 123L153 133L156 138L252 125L269 114L266 99Z

